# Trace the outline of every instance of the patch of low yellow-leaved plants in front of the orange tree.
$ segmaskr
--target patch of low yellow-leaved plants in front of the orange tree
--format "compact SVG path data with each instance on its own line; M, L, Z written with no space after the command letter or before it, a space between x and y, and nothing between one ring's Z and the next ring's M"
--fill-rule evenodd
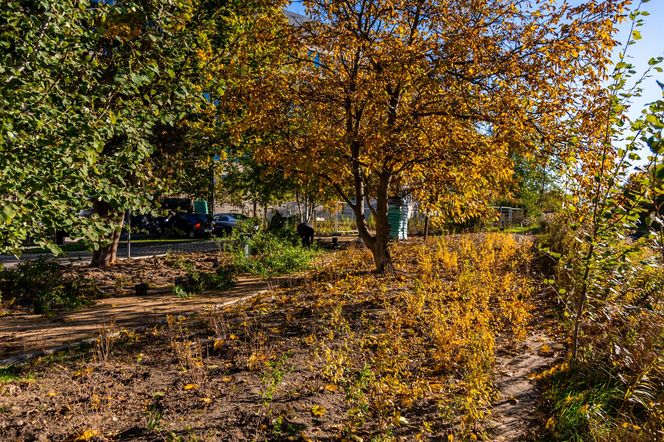
M396 434L417 407L435 407L441 419L420 422L422 434L476 434L494 393L496 335L526 334L530 249L501 233L442 237L394 247L394 275L370 273L365 252L350 250L317 278L327 324L317 360L346 392L349 431Z

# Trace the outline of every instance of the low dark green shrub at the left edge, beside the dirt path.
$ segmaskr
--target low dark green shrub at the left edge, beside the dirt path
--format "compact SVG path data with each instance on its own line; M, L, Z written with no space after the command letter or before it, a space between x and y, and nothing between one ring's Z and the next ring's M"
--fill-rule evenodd
M6 298L39 314L81 308L101 294L83 275L66 272L58 262L46 258L24 261L14 270L4 270L1 279Z

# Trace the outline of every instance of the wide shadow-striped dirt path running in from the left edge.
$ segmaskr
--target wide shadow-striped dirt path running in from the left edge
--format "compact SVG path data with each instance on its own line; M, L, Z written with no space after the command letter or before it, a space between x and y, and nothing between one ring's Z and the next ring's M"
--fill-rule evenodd
M90 308L53 318L28 313L0 317L0 365L94 338L103 326L118 330L151 327L169 313L190 315L206 307L232 304L289 281L239 278L231 290L209 291L190 299L160 289L142 297L102 299Z

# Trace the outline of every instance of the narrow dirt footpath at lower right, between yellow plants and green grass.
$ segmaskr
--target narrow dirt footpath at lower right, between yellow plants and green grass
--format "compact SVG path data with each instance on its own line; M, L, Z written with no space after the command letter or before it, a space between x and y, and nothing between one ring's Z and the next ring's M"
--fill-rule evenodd
M488 428L494 441L522 441L542 422L538 410L541 392L532 375L547 369L564 349L542 330L533 330L518 351L496 356L494 402Z

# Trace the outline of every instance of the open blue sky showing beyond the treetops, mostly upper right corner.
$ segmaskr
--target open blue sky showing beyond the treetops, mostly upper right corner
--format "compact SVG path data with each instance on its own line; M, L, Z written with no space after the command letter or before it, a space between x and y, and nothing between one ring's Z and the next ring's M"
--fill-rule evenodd
M579 2L573 1L573 3ZM301 1L293 1L288 9L299 14L304 14ZM651 57L664 56L664 0L651 0L644 5L642 10L650 13L649 16L642 17L645 21L643 27L640 28L643 38L630 46L627 52L628 61L635 65L636 71L639 73L648 68L648 60ZM629 34L629 27L629 22L621 25L617 36L618 41L626 41ZM634 101L631 109L632 116L638 115L646 103L661 98L661 89L657 86L655 80L664 83L664 74L653 72L653 76L643 83L643 96Z

